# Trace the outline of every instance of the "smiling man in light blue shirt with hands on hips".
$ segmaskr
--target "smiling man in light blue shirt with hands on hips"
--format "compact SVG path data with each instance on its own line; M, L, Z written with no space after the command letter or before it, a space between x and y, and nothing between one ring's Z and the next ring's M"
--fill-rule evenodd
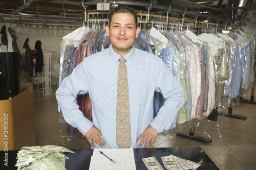
M152 148L158 133L168 130L176 121L176 114L183 106L183 89L159 57L133 46L140 31L133 8L112 9L105 30L112 43L110 47L85 58L56 91L63 116L86 136L92 147L119 148L118 69L124 58L129 87L129 146ZM155 91L161 92L166 100L153 118ZM93 122L83 116L76 103L76 96L87 92L92 101Z

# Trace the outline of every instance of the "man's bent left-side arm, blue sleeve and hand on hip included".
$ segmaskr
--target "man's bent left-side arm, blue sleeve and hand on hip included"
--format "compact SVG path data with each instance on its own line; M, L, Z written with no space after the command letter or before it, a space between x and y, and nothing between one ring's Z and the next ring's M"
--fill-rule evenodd
M100 146L105 145L100 138L100 130L87 119L79 110L76 97L78 94L85 94L88 92L88 71L81 63L72 72L70 76L63 79L59 88L56 91L56 99L60 106L63 117L66 122L72 127L77 128L84 136L87 137L90 144L94 147L92 140Z

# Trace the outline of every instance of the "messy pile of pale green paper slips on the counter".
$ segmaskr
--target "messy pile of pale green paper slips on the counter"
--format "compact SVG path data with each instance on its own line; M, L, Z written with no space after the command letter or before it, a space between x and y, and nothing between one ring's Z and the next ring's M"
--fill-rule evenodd
M18 170L23 169L66 169L65 160L68 157L63 152L74 153L63 147L46 145L43 147L23 147L17 153Z

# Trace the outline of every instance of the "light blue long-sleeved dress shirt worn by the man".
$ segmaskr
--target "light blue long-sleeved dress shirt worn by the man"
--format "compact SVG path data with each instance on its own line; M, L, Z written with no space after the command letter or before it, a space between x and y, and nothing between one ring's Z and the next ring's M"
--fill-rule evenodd
M120 55L109 48L84 58L65 78L56 91L61 111L67 123L83 135L95 125L106 143L103 148L119 148L116 144L116 96ZM163 61L133 46L124 56L129 85L132 144L138 148L137 137L151 125L158 133L169 129L183 106L184 92ZM153 118L154 92L161 92L165 103ZM79 110L76 96L89 92L93 122ZM94 141L93 141L94 142ZM100 148L95 143L95 148ZM142 147L144 144L142 145ZM149 147L149 146L148 146Z

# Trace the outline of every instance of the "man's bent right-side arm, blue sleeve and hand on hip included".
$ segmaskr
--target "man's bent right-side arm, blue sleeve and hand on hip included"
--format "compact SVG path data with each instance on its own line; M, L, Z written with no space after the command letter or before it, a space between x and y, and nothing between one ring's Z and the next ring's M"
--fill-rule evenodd
M137 141L142 138L138 148L144 142L144 148L147 148L150 140L150 147L152 148L158 133L169 130L170 125L176 121L176 114L178 114L184 103L184 90L182 86L175 80L172 72L168 70L161 60L158 60L155 72L156 91L162 93L165 102L157 116L150 123L150 126L137 138Z

